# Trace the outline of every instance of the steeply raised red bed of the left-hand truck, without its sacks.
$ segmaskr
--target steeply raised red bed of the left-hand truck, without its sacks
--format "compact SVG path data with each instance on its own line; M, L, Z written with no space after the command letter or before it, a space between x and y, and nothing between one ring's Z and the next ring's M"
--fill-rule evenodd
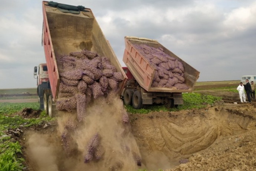
M127 76L115 56L112 47L106 40L91 9L89 12L80 11L80 14L62 13L57 8L47 6L43 1L43 38L45 59L49 73L49 81L53 99L58 98L59 73L56 56L81 51L86 48L95 51L99 56L107 57L124 80L119 83L120 90L125 85ZM121 93L121 92L120 92Z

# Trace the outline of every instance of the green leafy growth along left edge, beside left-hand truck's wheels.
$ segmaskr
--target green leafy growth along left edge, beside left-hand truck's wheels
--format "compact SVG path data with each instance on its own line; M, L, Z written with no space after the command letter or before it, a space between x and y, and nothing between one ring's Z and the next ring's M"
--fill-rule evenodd
M22 147L18 141L10 138L5 132L8 129L30 127L33 125L49 122L54 119L46 115L45 111L40 113L39 118L22 118L11 114L21 111L23 108L39 108L38 103L0 103L0 170L21 171L23 169Z

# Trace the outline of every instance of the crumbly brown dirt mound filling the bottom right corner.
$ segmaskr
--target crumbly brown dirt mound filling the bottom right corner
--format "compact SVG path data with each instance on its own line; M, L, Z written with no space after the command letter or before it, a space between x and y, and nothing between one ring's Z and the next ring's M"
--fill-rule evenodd
M166 171L255 171L256 131L220 137L210 148L193 154L189 162Z

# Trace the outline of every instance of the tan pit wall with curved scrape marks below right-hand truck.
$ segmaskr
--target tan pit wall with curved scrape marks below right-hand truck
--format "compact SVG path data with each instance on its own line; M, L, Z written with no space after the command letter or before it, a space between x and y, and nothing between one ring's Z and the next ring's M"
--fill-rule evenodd
M132 132L148 170L167 169L181 159L208 148L219 137L255 129L256 109L250 104L223 104L200 110L131 115ZM159 163L155 152L168 158ZM147 160L155 158L154 164Z

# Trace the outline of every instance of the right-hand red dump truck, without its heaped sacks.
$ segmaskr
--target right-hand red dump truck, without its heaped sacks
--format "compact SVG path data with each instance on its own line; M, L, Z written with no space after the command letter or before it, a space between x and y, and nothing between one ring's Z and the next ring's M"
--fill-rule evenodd
M152 87L155 68L141 54L135 45L147 45L149 47L161 48L165 54L177 59L183 64L184 78L187 90L178 90L168 87ZM121 93L126 105L132 105L135 109L144 105L165 104L168 108L183 104L182 93L191 92L196 84L200 72L191 67L170 50L158 43L157 40L139 37L125 37L125 50L123 56L123 67L127 74L127 82Z

